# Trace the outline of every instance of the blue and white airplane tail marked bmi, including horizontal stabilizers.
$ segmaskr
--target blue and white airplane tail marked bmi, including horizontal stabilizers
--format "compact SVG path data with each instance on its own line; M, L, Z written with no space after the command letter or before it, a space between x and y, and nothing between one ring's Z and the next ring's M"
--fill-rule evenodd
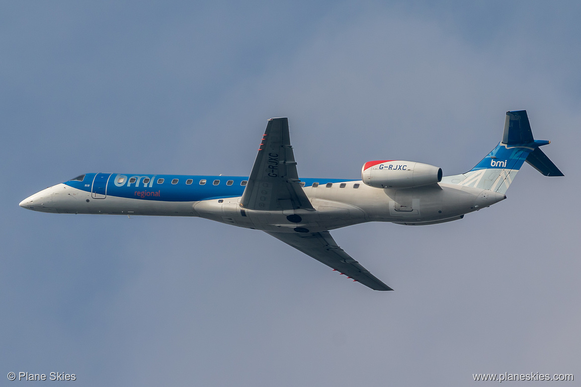
M526 161L546 176L563 176L561 171L539 149L550 141L535 140L526 110L507 112L503 139L482 161L467 173L447 176L443 182L506 193L522 164Z

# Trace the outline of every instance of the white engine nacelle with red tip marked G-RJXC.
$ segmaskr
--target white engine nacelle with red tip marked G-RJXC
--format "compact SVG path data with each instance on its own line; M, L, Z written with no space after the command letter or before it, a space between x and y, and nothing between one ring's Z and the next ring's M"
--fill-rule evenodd
M361 180L375 188L414 188L442 181L442 168L403 160L365 163Z

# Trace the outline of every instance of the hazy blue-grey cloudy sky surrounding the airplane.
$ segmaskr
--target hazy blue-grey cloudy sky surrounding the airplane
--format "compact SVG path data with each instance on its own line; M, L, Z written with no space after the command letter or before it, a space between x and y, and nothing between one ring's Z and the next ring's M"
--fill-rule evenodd
M578 381L580 13L574 1L0 2L0 378ZM18 206L82 173L248 175L271 117L289 117L302 177L357 179L378 159L458 174L521 109L565 177L525 164L507 200L463 220L332 232L393 292L255 230ZM575 382L543 385L562 384Z

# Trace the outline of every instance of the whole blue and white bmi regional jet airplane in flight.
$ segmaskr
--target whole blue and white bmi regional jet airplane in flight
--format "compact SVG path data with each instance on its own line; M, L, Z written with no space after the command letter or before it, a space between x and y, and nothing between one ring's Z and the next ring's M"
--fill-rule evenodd
M503 138L467 173L404 160L375 160L361 180L299 178L288 119L268 120L249 177L87 173L22 200L29 210L68 214L193 216L261 230L377 291L393 290L341 249L330 230L371 221L431 225L506 199L526 161L563 176L533 138L526 110L507 112Z

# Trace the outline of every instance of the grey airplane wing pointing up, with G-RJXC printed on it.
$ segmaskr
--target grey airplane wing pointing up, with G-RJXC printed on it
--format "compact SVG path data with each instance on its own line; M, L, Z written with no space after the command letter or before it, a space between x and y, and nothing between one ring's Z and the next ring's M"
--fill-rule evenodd
M241 206L249 210L314 210L300 187L288 119L268 120Z

